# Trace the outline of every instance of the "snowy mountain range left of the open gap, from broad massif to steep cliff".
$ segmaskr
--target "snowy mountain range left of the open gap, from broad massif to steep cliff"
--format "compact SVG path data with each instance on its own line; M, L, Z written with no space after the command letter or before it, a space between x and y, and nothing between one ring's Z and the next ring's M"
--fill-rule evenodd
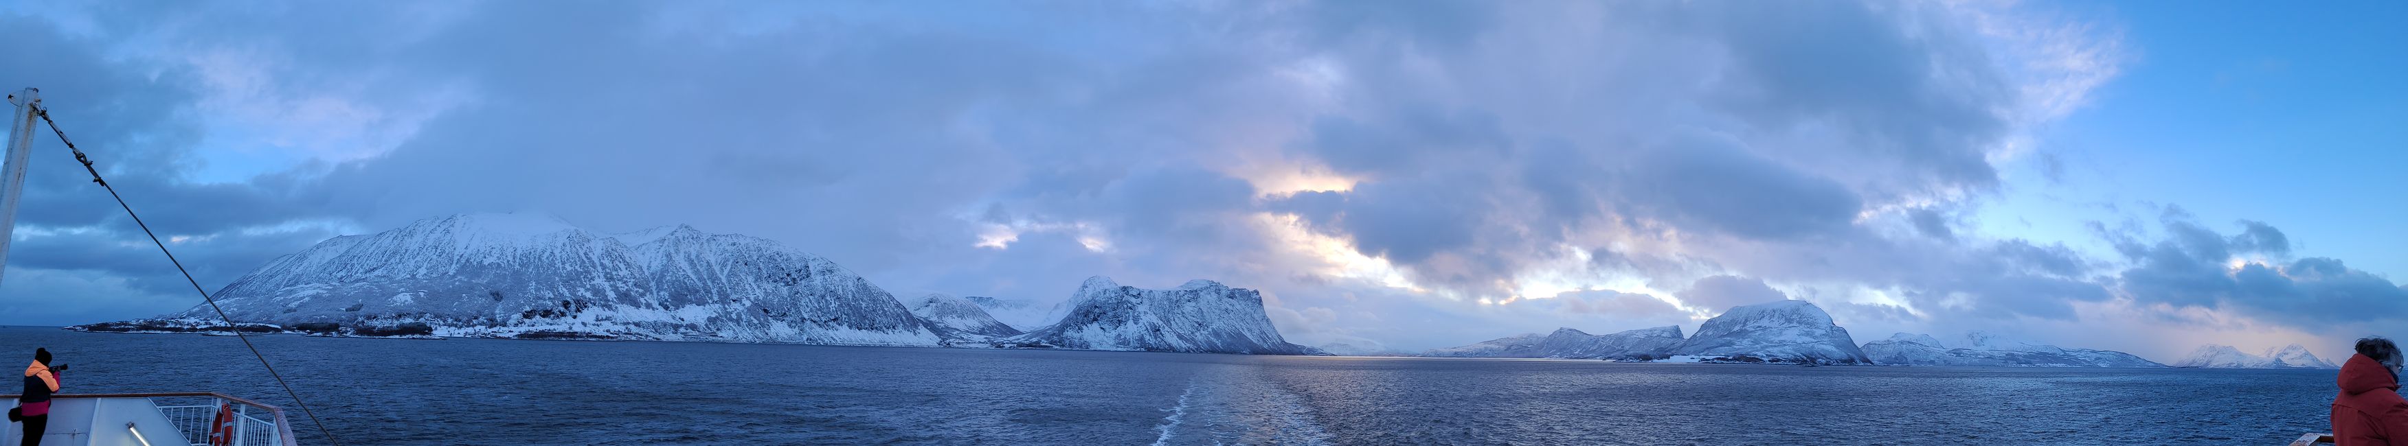
M214 297L246 333L1320 354L1271 328L1262 294L1209 280L1137 289L1093 277L1072 299L1076 318L1038 330L1023 301L934 294L905 306L768 239L691 227L595 234L537 215L335 236ZM1011 309L1021 325L987 309ZM229 330L212 321L195 306L75 330Z

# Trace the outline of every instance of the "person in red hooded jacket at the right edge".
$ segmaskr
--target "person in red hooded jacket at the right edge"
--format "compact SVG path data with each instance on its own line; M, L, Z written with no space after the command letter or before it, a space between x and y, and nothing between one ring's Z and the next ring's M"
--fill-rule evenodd
M2401 347L2384 338L2357 340L2341 364L2333 395L2336 446L2408 446L2408 400L2401 400Z

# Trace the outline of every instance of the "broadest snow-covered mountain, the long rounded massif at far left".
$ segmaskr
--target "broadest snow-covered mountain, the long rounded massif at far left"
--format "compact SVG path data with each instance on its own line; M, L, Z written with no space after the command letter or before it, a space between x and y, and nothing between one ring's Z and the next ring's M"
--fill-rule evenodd
M429 323L455 338L942 342L942 328L886 289L768 239L691 227L595 234L539 215L335 236L234 280L217 301L246 323Z

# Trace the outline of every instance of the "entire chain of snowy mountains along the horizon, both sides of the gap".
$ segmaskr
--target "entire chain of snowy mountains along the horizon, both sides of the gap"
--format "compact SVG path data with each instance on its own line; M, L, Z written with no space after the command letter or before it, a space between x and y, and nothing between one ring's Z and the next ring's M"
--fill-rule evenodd
M214 297L246 333L1327 354L1286 342L1259 292L1211 280L1139 289L1091 277L1052 306L946 294L905 304L833 260L768 239L691 227L595 234L535 215L453 215L335 236L270 260ZM195 306L75 330L236 328ZM2162 366L2124 352L2003 342L1987 333L1963 342L1898 333L1857 345L1808 301L1734 306L1688 338L1678 325L1609 335L1558 328L1421 357ZM2264 354L2203 345L2172 366L2333 369L2300 345Z

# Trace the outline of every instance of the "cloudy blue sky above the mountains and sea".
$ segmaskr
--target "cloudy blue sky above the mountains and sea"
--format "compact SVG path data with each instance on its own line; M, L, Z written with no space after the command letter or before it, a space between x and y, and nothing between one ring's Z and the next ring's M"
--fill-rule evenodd
M5 2L0 84L217 289L462 212L898 297L1259 289L1303 345L1806 299L2172 362L2408 335L2408 5ZM0 323L197 297L41 135Z

